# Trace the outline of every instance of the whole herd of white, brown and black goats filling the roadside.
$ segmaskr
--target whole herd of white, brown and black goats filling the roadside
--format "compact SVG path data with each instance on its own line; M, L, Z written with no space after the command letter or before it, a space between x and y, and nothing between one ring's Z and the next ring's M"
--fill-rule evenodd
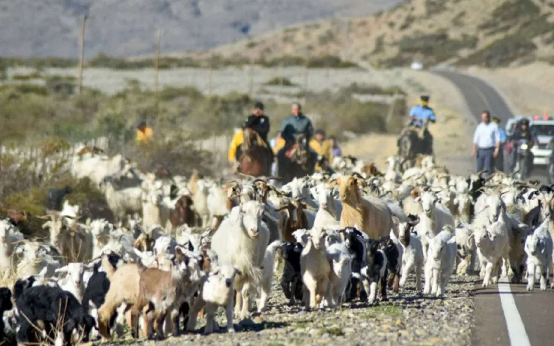
M350 157L334 169L276 187L273 177L143 172L85 147L71 174L98 184L115 222L81 220L65 202L44 216L50 236L40 241L20 233L24 212L0 220L0 271L13 286L0 288L1 339L73 344L126 325L134 337L165 338L196 330L203 315L212 333L218 307L234 332L233 318L254 304L264 312L280 263L286 299L306 309L385 301L410 274L423 295L443 296L453 273L474 271L483 287L502 274L547 288L550 186L449 174L433 156L404 171L398 157L384 172Z

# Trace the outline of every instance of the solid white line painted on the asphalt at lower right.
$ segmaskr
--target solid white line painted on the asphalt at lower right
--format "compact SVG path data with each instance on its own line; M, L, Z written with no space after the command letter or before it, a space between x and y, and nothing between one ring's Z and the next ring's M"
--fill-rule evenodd
M507 281L506 277L500 278L498 282L498 293L502 311L504 312L504 319L506 320L508 335L510 337L510 345L531 346L529 336L525 331L525 325L523 324L523 320L521 320L519 311L517 311L510 283Z

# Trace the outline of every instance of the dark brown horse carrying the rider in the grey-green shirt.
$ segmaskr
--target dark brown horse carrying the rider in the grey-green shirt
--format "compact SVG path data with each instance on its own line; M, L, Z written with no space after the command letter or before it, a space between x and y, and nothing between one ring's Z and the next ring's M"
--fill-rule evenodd
M296 135L295 144L288 151L293 151L290 157L283 155L278 159L279 176L283 184L295 177L314 174L317 154L310 150L304 134Z

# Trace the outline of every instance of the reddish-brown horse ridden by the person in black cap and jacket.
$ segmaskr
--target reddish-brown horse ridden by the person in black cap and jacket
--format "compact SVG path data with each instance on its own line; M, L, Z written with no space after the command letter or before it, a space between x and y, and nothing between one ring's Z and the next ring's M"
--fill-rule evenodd
M243 130L242 154L239 157L238 171L255 177L271 174L271 156L268 146L260 135L250 128Z

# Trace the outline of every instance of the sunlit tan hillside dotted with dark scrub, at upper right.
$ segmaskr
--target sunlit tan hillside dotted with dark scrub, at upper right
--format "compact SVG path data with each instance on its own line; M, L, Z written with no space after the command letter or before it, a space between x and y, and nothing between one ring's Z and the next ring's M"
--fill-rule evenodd
M373 16L284 28L196 53L225 58L338 55L387 67L413 60L505 67L554 57L554 1L411 0Z

